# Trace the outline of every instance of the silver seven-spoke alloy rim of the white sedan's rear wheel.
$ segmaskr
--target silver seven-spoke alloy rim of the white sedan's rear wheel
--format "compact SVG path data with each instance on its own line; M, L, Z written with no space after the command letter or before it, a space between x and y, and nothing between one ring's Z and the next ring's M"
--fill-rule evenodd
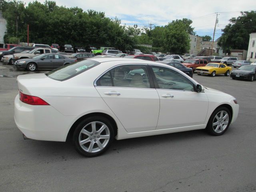
M80 147L89 153L103 150L110 140L110 130L106 124L94 121L82 128L79 134Z

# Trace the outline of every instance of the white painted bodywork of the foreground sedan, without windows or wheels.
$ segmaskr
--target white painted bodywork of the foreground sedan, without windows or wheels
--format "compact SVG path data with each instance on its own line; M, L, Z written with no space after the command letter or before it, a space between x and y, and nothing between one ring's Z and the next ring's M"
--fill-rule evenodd
M232 107L231 123L238 116L239 105L234 104L233 96L207 88L204 93L188 93L156 89L95 87L94 80L120 64L154 64L172 67L156 64L156 62L118 57L93 58L93 60L104 63L65 81L50 79L45 74L18 76L17 82L21 92L38 96L50 104L50 106L28 105L16 96L14 119L17 127L28 138L65 141L76 120L95 112L107 114L114 119L118 127L116 139L203 129L212 112L221 104ZM179 72L176 68L172 69ZM187 78L198 84L192 78ZM120 92L120 97L104 94L108 91ZM174 98L159 98L158 93L161 95L168 92L172 92ZM170 101L174 102L168 106ZM190 112L192 116L188 116ZM174 113L176 113L175 118L168 119L168 114Z

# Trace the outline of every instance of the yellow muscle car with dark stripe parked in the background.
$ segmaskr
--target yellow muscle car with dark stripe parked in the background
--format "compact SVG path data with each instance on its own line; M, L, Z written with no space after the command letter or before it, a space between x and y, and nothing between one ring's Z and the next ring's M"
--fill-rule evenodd
M229 76L232 68L226 66L225 64L222 63L208 63L204 67L197 67L195 72L198 75L210 75L214 77L215 75L218 74L224 74L225 76Z

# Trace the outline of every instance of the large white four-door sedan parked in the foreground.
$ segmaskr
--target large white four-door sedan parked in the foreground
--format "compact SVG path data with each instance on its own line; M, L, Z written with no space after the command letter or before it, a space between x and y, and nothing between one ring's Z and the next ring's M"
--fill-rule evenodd
M113 139L206 129L221 135L239 105L166 64L92 58L46 74L20 75L14 120L35 140L71 138L84 156L106 151Z

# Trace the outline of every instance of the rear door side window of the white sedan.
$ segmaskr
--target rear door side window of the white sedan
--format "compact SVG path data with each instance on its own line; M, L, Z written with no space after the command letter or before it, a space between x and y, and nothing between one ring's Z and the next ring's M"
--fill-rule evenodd
M96 84L97 86L150 88L146 66L142 65L118 66L104 74Z

